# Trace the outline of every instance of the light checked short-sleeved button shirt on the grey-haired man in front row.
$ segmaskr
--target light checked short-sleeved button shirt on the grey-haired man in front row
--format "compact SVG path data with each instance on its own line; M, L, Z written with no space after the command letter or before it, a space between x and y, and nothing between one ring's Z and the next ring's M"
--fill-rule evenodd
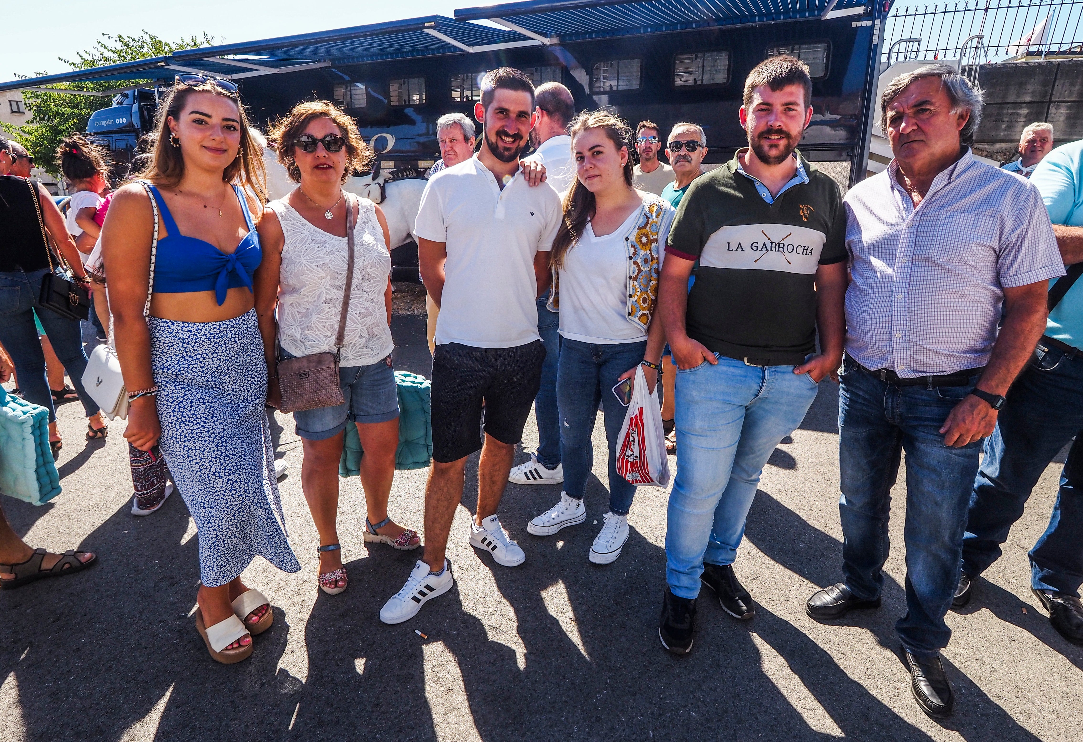
M1038 189L967 150L915 209L887 170L850 188L846 352L904 379L984 366L1004 288L1065 274Z

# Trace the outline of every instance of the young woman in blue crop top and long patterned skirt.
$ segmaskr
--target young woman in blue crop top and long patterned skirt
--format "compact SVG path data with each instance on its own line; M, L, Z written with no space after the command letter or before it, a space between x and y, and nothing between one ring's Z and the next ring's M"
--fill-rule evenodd
M196 628L211 657L233 663L251 654L252 636L273 620L240 573L257 555L300 569L282 521L251 291L262 161L232 83L178 76L160 110L143 173L154 202L143 184L125 186L102 230L131 399L125 437L144 451L158 442L165 454L199 533Z

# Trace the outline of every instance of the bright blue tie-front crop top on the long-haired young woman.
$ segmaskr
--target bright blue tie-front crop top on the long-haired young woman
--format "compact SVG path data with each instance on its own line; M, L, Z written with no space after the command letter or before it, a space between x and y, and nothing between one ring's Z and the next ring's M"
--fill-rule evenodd
M161 194L154 186L154 200L158 202L161 220L166 223L166 237L158 240L154 261L154 290L161 293L188 293L213 289L218 305L225 303L225 292L237 287L252 290L252 274L263 260L260 236L252 224L245 195L233 186L245 213L248 234L232 254L226 254L206 240L185 237L177 228Z

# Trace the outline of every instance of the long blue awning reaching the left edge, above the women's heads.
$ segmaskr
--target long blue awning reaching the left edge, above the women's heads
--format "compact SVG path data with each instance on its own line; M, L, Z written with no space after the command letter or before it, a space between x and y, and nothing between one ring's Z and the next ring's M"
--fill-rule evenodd
M204 72L238 80L318 67L402 57L484 52L540 42L503 28L441 15L284 36L261 41L201 47L92 69L23 78L0 83L0 91L57 82L171 80L178 72Z

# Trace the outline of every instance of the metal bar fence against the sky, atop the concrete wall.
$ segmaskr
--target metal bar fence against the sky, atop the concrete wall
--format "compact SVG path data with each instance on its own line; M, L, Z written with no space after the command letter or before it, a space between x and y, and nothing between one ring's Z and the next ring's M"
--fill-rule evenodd
M892 9L883 61L1083 57L1083 0L961 0Z

